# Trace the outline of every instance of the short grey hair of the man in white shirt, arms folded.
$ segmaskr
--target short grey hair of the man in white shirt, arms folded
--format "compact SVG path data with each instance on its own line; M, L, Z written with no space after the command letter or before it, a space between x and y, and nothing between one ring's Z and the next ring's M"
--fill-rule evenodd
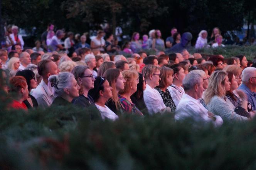
M191 90L195 87L196 84L200 85L200 80L202 79L201 75L198 73L189 73L185 76L182 81L183 88L185 91Z

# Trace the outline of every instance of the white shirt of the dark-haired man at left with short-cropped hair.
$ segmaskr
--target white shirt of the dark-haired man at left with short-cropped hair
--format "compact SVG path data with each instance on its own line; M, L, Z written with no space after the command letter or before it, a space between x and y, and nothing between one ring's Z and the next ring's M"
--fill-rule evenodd
M32 93L32 96L35 97L39 107L47 108L52 105L54 100L54 95L52 93L52 87L49 87L44 80L42 80L37 88Z

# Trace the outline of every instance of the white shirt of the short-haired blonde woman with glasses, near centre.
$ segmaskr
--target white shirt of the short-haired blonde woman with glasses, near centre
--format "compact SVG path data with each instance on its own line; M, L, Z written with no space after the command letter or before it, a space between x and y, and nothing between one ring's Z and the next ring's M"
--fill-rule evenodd
M166 108L160 93L148 84L143 92L143 99L150 115Z

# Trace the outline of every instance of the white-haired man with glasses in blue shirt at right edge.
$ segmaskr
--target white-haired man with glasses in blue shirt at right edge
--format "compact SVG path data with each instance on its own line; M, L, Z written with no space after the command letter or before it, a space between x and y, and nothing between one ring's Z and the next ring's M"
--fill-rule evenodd
M244 68L242 72L242 84L238 89L247 95L248 102L252 106L252 111L256 110L256 68Z

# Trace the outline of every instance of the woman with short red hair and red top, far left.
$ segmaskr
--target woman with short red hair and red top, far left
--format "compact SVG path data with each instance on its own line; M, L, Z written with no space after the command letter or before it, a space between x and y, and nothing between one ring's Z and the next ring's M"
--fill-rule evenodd
M8 108L27 110L27 106L23 101L27 100L29 90L24 77L15 76L10 79L10 94L12 96L12 102Z

